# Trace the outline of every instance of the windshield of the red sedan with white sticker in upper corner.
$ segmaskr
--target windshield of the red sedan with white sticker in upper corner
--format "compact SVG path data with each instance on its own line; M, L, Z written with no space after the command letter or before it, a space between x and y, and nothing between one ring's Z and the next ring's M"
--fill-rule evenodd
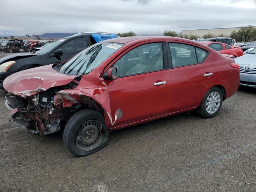
M124 44L110 42L94 44L60 66L58 71L70 75L88 74L122 46Z

